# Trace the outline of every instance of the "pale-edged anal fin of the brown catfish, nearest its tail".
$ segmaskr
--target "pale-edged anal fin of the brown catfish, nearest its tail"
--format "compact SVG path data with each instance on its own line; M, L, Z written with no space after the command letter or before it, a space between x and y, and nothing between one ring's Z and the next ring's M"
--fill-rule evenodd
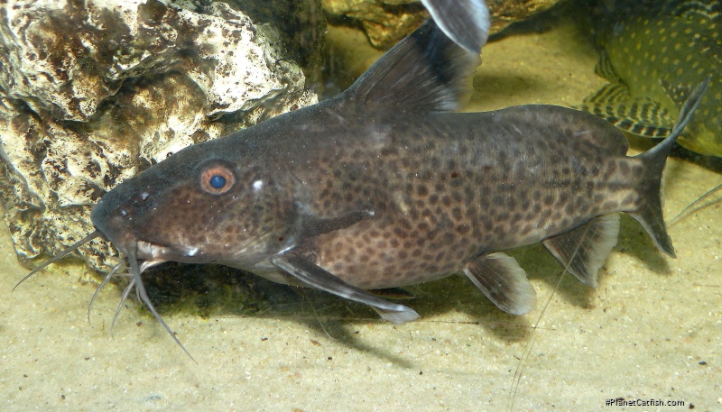
M587 224L544 240L544 246L582 283L597 288L597 272L615 247L619 214L595 217Z

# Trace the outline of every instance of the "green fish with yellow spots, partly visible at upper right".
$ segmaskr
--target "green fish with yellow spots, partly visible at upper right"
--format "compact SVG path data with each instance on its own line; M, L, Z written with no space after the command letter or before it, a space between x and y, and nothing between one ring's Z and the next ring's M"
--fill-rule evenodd
M627 132L664 137L694 87L711 77L680 144L722 156L722 2L643 0L607 7L600 7L595 30L597 73L609 83L582 109Z

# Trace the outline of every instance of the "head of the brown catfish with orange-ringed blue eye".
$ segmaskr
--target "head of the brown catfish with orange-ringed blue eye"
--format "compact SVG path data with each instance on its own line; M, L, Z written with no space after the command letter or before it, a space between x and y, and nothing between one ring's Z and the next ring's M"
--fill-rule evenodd
M143 269L181 261L253 270L291 248L301 231L301 182L233 137L179 151L126 180L100 199L93 224Z

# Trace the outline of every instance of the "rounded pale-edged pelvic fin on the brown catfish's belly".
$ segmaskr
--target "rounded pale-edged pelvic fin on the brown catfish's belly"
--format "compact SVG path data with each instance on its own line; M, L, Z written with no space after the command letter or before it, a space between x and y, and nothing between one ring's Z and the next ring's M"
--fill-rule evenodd
M463 271L504 312L523 315L534 307L536 291L513 257L492 253L472 261Z

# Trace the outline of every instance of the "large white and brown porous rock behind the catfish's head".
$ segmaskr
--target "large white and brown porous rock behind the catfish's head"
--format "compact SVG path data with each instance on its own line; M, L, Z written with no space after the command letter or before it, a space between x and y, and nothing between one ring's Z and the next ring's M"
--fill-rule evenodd
M171 153L315 103L317 1L0 4L0 191L18 255L92 232L97 199ZM302 34L271 23L289 13ZM117 261L100 239L80 254L97 270Z

